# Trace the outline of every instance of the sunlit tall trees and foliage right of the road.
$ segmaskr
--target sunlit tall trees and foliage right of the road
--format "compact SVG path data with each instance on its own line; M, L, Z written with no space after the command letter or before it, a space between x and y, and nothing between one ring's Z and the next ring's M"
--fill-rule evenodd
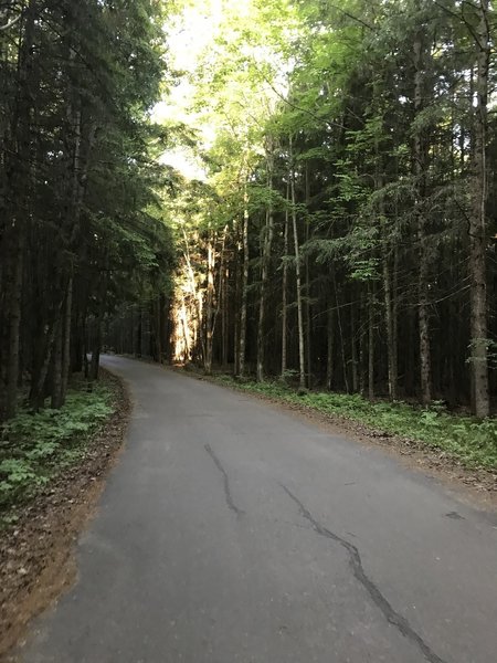
M210 370L209 334L235 375L296 371L300 386L487 415L491 3L202 7L183 6L187 34L192 11L211 12L211 40L181 108L215 194L199 191L187 233L204 294L183 358Z

